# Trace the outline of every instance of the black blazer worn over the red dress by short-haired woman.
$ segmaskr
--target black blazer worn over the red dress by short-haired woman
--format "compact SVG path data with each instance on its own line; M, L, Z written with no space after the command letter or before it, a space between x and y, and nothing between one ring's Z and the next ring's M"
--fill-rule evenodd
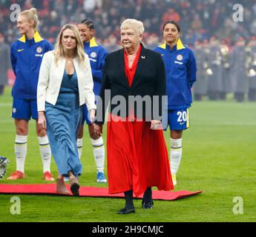
M138 107L138 110L138 104L134 104L134 114L137 119L146 119L146 121L151 121L151 119L162 119L162 107L165 104L165 100L163 100L162 96L165 96L166 94L166 78L163 59L159 53L148 50L142 46L140 59L137 64L131 87L129 87L128 79L125 75L123 49L108 54L105 59L103 72L102 87L99 94L100 98L96 109L96 124L104 123L105 111L110 99L111 105L109 107L109 112L116 116L121 116L122 118L128 117L129 96L141 96L142 98L146 96L144 99L147 98L149 99L148 101L151 101L151 103L148 104L151 107L149 110L148 106L147 110L145 109L147 103L143 103L143 106L140 107L140 109ZM105 90L110 90L111 96L108 96L108 93L106 93ZM122 104L125 104L126 107L122 112L119 110L119 98L115 98L115 96L123 97ZM153 103L153 96L160 96L160 99L154 100ZM102 104L100 101L102 101ZM157 105L159 110L157 109Z

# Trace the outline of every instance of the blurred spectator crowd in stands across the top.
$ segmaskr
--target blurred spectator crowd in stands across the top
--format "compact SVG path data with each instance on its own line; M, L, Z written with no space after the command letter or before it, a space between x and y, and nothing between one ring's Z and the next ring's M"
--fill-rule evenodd
M233 6L243 6L243 22L233 21ZM91 19L96 26L96 38L109 51L115 50L119 40L120 22L127 18L143 21L144 42L157 45L162 37L163 23L174 19L180 23L183 41L194 44L197 39L237 40L256 35L256 1L234 0L0 0L0 33L8 44L19 37L16 22L10 21L11 4L22 10L36 7L40 16L40 33L54 43L60 28L81 19Z

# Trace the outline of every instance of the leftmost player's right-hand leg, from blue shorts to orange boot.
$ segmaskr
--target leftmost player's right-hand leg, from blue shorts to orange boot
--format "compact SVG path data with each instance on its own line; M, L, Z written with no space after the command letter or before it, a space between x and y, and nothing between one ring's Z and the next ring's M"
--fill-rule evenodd
M32 118L36 120L36 134L39 139L39 150L42 158L43 165L43 173L46 181L54 181L52 174L50 173L50 160L51 160L51 152L50 152L50 144L47 137L47 133L45 129L42 129L38 124L38 112L36 100L30 101L30 110L32 112Z

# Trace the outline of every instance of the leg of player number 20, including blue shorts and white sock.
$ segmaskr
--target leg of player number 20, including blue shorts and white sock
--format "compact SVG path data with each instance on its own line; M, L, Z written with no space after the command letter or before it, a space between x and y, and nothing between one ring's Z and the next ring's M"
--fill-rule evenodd
M174 185L177 184L177 172L180 167L180 161L183 154L183 130L189 127L188 109L171 110L171 151L170 166Z

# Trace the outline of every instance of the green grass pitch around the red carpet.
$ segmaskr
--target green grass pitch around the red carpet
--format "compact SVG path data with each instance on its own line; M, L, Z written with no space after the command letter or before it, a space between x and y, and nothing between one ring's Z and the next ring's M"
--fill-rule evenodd
M11 119L10 87L0 96L0 154L10 159L7 176L16 168L15 127ZM153 210L142 210L135 200L136 214L119 216L119 198L76 198L19 196L21 214L12 215L10 195L0 195L1 221L256 221L256 103L228 101L194 102L191 127L183 135L183 159L175 190L203 190L177 201L155 201ZM35 121L30 121L25 173L21 181L0 184L41 184L42 161ZM85 129L86 130L86 129ZM104 133L104 138L105 138ZM170 146L169 132L165 138ZM86 131L82 155L83 186L107 187L96 183L96 167ZM51 170L56 177L56 164ZM243 200L243 213L233 212L234 197Z

